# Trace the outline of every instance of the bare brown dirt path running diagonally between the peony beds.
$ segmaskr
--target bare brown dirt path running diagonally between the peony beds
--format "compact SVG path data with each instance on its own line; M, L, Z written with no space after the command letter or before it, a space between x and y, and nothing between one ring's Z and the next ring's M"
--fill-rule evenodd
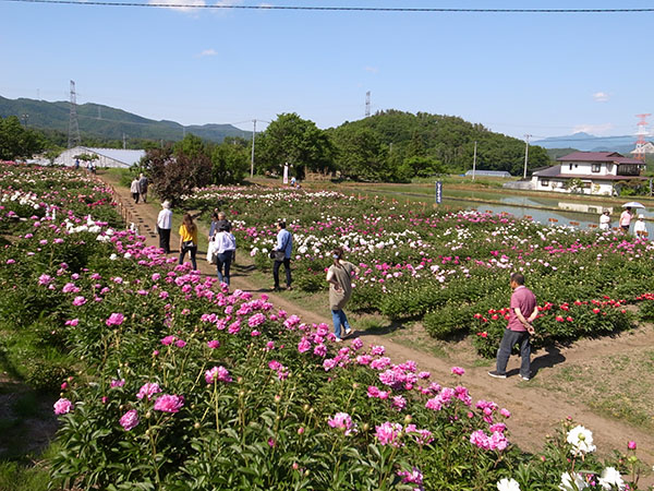
M159 203L140 203L134 204L130 190L118 184L113 176L104 173L99 176L105 182L114 189L116 200L121 205L123 216L130 223L138 226L141 235L146 237L148 246L158 246L158 236L156 233L156 220L160 211ZM201 227L201 232L205 232ZM177 230L171 233L171 248L177 250L179 236ZM174 254L171 253L171 254ZM205 261L206 251L197 253L197 265L203 274L215 276L215 266ZM257 285L253 278L249 277L252 270L244 267L244 258L250 259L247 254L241 252L238 255L239 264L232 270L231 284L232 289L240 288L255 294L266 294L278 308L287 310L289 313L299 315L304 322L327 323L331 325L331 318L327 315L327 300L325 300L325 315L316 314L304 309L301 304L293 303L284 294L281 295L270 291L272 283ZM189 260L186 258L186 260ZM233 267L233 266L232 266ZM638 330L623 333L610 338L583 339L568 348L556 348L554 350L538 350L533 354L532 366L534 370L546 372L558 363L579 363L584 360L602 360L609 356L623 354L630 356L637 348L651 348L652 335L654 328L651 324L639 327ZM638 429L621 421L604 418L593 412L584 400L576 400L573 396L565 393L555 393L542 387L533 386L533 382L518 382L519 359L512 357L509 361L509 378L507 380L491 379L487 371L493 369L494 363L488 361L485 367L465 366L463 361L456 359L444 360L433 357L419 349L396 343L386 335L371 334L368 332L356 332L354 326L354 336L360 336L366 344L383 345L386 347L387 355L396 363L405 360L414 360L421 370L431 371L434 380L443 385L461 384L469 388L473 400L486 399L494 400L500 407L506 407L512 414L508 421L510 430L510 440L521 448L537 453L545 444L546 434L554 434L558 423L571 417L576 422L583 424L593 431L594 442L600 453L609 455L613 450L620 452L627 451L627 442L634 440L638 443L638 455L652 469L654 464L654 434L643 429ZM450 368L455 364L465 367L465 374L457 380L450 373ZM537 376L537 375L536 375ZM638 373L625 373L625 378L639 376ZM647 381L653 384L654 381ZM530 386L531 385L531 386ZM654 483L653 476L646 476L641 483Z

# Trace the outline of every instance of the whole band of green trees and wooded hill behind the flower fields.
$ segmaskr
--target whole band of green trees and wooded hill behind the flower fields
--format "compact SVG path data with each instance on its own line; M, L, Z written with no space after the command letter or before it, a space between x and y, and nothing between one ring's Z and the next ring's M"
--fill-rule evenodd
M65 135L61 132L23 128L15 117L0 123L1 158L63 149ZM405 182L415 177L465 172L472 168L475 142L477 169L522 173L525 146L521 140L453 116L399 110L379 111L328 130L294 112L278 115L266 131L256 135L254 171L280 175L288 164L291 173L300 179L312 171L362 181ZM92 136L83 139L83 144L122 147L122 142ZM174 173L179 180L185 169L196 177L196 185L241 182L247 176L252 153L252 142L241 137L216 144L187 134L177 143L130 141L130 147L134 144L147 151L143 166L148 171L155 171L158 163L168 165L174 160L172 167L157 171L162 176ZM549 161L544 148L530 146L530 170ZM185 167L173 170L182 165Z

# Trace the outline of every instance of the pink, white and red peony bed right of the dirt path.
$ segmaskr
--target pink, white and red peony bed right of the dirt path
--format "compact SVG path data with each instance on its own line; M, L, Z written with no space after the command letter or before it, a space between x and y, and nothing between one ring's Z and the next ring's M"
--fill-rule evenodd
M514 271L525 274L543 304L603 297L625 304L654 289L654 247L613 232L544 227L487 213L443 213L334 191L210 188L184 201L194 208L227 209L241 247L262 270L270 266L274 223L286 219L294 238L295 286L306 291L326 289L329 251L343 246L361 267L350 308L422 320L439 338L480 332L475 314L508 304L508 276ZM565 328L543 319L536 326L542 342L601 335L631 324L621 310L611 311L607 322L572 319ZM482 354L497 340L485 339L477 345Z

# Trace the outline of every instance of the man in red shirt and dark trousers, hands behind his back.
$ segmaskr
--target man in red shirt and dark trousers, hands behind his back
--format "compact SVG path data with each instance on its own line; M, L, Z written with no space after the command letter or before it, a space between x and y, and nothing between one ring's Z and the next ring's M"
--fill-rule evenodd
M520 345L520 376L522 380L531 378L531 345L530 335L534 334L532 322L538 315L536 308L536 296L524 286L524 276L521 273L511 275L511 308L509 311L509 324L497 350L497 370L488 372L496 379L507 378L507 362L511 356L513 346Z

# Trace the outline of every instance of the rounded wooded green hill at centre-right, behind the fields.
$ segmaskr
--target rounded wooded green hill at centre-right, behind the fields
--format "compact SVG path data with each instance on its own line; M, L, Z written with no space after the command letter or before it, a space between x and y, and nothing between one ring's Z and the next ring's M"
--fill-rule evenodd
M476 168L506 170L522 176L524 142L494 133L482 124L473 124L459 117L426 112L380 111L368 118L346 122L330 130L339 149L340 168L348 168L352 177L377 179L379 172L392 172L404 167L417 175L464 172L472 169L474 142L477 142ZM388 154L388 168L366 165L365 155L352 154L368 142L371 151L378 146ZM372 157L372 155L370 156ZM379 161L379 159L375 159ZM530 145L529 169L549 165L546 151ZM367 175L366 175L367 173Z

